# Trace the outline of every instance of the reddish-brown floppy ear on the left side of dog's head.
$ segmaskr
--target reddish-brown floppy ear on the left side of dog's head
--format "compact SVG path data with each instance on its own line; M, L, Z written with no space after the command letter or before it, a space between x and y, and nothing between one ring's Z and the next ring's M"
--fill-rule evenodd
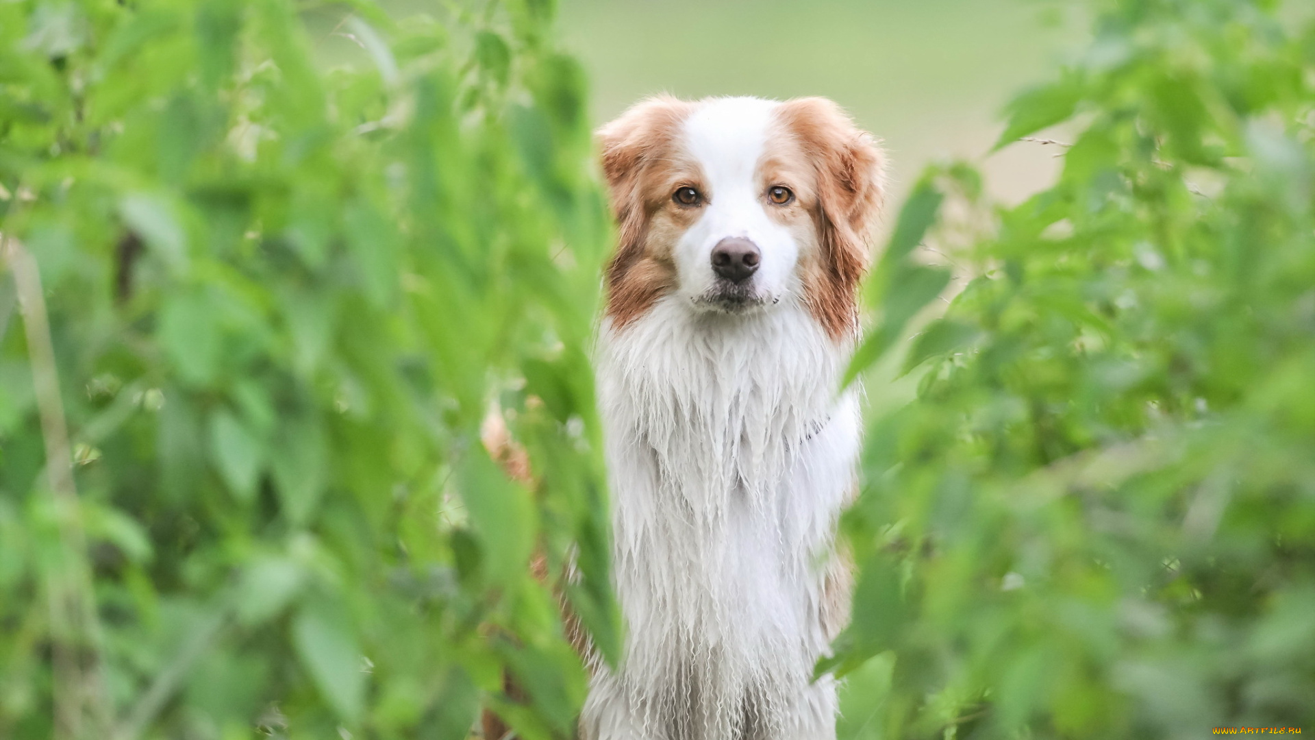
M594 134L602 151L608 196L619 226L608 263L608 315L625 324L652 304L671 283L669 270L644 258L650 208L644 171L665 159L692 103L668 95L636 103Z

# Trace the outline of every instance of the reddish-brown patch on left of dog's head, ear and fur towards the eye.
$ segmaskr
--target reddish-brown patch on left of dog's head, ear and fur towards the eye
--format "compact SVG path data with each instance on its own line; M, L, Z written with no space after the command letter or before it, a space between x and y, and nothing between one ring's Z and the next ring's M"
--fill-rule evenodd
M671 254L655 248L669 248L673 240L650 232L654 213L675 187L696 184L681 180L682 174L690 179L697 172L681 172L673 151L680 124L693 108L693 103L671 96L650 97L597 132L611 209L621 228L617 251L608 263L606 315L617 327L634 321L676 287ZM679 221L680 212L673 215Z

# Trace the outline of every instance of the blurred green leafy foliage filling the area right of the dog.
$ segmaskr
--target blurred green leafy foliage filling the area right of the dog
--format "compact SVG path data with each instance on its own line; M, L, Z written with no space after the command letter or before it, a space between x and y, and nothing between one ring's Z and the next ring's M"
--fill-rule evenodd
M842 737L1315 731L1315 24L1098 9L1007 108L1002 144L1070 132L1032 144L1053 187L992 207L935 167L876 270L853 371L918 391L844 520Z

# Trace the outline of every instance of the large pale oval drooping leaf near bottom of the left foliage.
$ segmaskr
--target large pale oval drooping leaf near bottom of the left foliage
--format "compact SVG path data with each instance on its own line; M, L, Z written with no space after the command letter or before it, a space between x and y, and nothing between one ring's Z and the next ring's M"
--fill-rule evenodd
M360 647L342 610L309 600L292 621L292 644L329 706L343 720L358 722L366 704L366 674Z

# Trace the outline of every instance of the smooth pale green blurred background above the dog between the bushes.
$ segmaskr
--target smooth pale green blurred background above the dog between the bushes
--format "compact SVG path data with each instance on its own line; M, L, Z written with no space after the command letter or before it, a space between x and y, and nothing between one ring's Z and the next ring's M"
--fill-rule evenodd
M594 121L659 92L823 95L885 141L888 215L927 162L984 158L1003 104L1085 46L1088 18L1085 7L1036 0L562 0L559 9L564 43L589 74ZM1053 154L1022 144L985 158L992 194L1018 201L1045 186Z

